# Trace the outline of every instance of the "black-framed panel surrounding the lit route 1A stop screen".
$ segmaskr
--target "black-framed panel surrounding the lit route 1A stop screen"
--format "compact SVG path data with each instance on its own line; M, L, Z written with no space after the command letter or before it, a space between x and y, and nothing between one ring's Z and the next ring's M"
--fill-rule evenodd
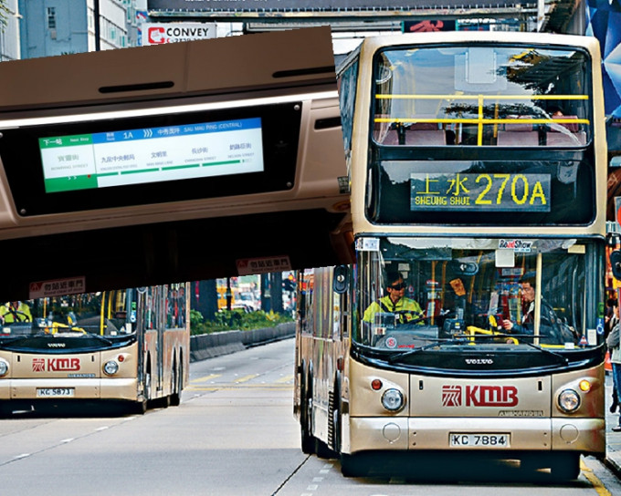
M302 102L123 109L0 129L22 216L289 191ZM162 112L157 110L161 108Z

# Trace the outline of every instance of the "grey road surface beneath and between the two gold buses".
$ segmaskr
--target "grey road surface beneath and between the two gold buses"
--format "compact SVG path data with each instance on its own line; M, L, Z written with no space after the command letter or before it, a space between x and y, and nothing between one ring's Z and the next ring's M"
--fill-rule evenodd
M580 478L555 483L507 464L429 466L342 477L338 460L300 450L292 414L293 340L195 362L180 407L142 417L98 411L20 414L0 421L5 496L112 493L278 496L606 496L615 475L584 460ZM383 460L384 462L384 460ZM10 482L9 482L10 481Z

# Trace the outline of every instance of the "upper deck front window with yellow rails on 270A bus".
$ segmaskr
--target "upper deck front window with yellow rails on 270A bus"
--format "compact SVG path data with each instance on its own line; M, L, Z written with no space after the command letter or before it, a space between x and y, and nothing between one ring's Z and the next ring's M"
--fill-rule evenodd
M373 139L384 146L583 147L588 56L549 47L399 47L374 61Z

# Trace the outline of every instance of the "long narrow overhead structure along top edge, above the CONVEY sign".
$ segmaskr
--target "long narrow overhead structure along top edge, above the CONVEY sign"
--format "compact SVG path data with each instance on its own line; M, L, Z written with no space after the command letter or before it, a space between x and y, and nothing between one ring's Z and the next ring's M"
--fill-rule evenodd
M300 15L300 13L319 13L332 15L352 15L355 12L382 15L383 12L406 12L434 9L438 13L449 10L523 9L536 2L516 2L515 0L481 0L469 4L464 0L444 0L440 5L430 0L147 0L150 11L160 14L188 12L202 13L236 12L248 15ZM414 14L414 12L412 13Z

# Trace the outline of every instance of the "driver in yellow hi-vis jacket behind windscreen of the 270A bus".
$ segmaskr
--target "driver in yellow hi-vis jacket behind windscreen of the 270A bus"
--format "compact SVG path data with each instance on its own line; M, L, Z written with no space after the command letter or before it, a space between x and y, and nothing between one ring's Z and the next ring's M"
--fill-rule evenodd
M374 316L378 312L386 312L397 315L398 324L419 324L425 314L418 303L411 298L405 297L405 281L403 275L397 271L386 274L387 295L377 302L373 302L364 311L363 321L373 323Z

